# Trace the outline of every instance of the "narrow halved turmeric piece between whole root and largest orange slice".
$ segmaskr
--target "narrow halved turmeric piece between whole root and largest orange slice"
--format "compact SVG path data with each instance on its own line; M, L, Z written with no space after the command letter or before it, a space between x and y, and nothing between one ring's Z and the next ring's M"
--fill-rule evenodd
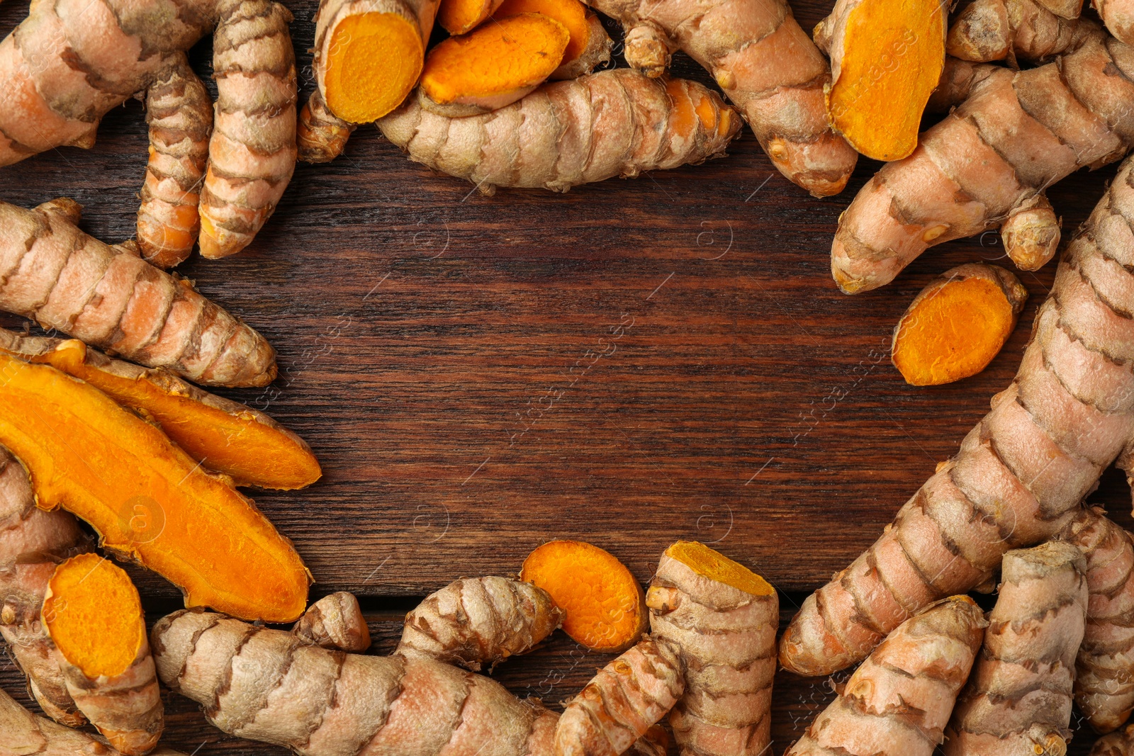
M3 329L0 350L86 381L158 423L189 457L237 485L302 489L322 475L303 439L268 415L202 391L163 369L111 359L75 339L20 337Z

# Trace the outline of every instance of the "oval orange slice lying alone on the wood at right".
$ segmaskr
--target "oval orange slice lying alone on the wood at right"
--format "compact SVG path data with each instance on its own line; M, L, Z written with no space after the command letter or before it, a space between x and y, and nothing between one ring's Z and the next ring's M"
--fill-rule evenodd
M909 303L894 329L894 366L911 385L976 375L1000 352L1027 301L1027 289L996 265L941 273Z

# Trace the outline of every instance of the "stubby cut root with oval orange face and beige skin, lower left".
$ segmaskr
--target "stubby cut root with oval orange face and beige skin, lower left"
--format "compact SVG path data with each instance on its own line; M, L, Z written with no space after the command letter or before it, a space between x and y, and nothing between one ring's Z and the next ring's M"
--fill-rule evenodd
M91 724L125 756L153 750L163 707L129 576L98 554L68 559L48 584L43 625L67 690Z

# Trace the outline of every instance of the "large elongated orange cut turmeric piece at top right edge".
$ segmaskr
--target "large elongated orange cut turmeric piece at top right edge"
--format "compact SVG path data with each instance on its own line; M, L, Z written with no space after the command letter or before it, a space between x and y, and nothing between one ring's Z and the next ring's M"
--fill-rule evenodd
M855 150L899 160L917 146L922 111L945 66L940 0L839 0L815 28L830 53L827 113Z

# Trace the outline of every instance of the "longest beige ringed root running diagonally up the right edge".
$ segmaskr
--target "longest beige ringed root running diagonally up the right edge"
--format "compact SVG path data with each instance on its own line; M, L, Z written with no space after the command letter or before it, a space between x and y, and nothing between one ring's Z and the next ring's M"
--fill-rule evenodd
M792 620L780 643L789 670L843 669L911 612L987 583L1007 551L1056 535L1134 435L1134 277L1124 267L1134 264L1131 168L1119 169L1067 246L992 411Z

